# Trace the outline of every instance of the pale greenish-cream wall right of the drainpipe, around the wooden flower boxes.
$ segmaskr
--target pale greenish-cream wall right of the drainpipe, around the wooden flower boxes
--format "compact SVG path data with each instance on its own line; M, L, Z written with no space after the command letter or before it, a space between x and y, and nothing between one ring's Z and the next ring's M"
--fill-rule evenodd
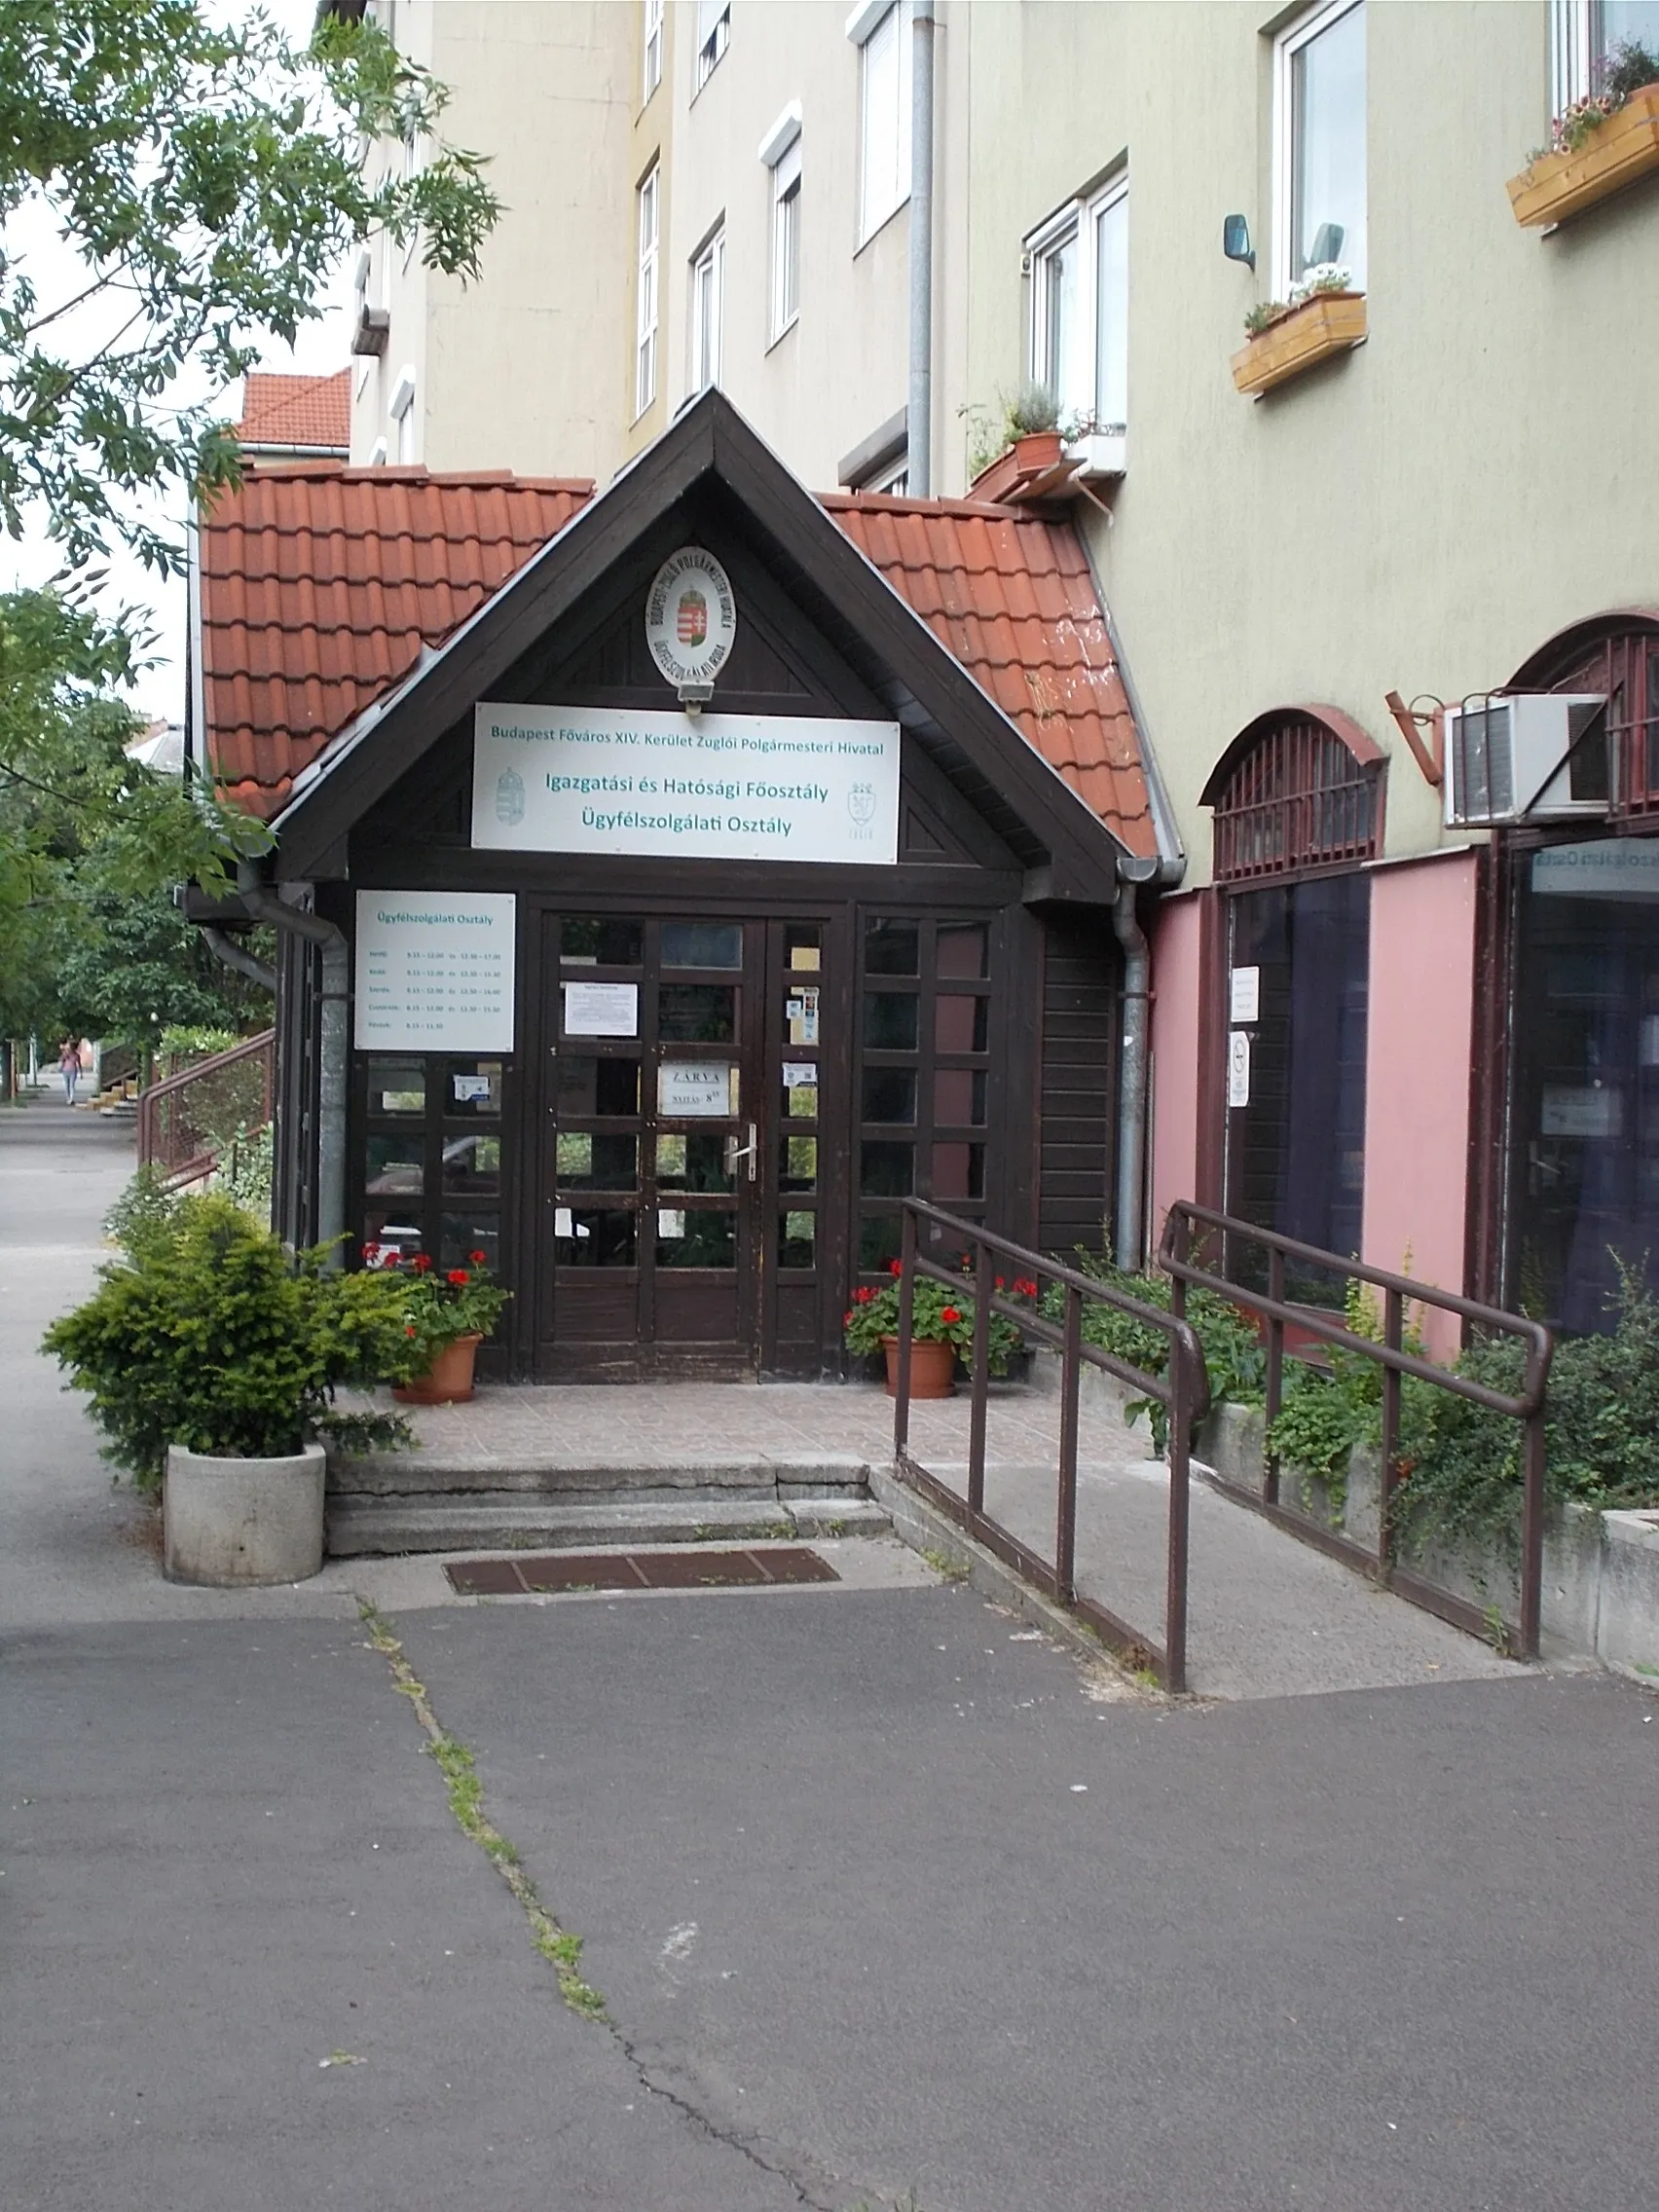
M1197 794L1263 708L1354 714L1391 752L1387 849L1420 852L1438 794L1385 690L1484 690L1568 622L1659 597L1659 296L1637 276L1659 201L1553 237L1509 212L1548 124L1542 0L1369 0L1369 338L1261 403L1232 389L1267 288L1272 22L1234 0L971 9L969 338L947 400L1018 378L1020 237L1128 148L1130 458L1088 538L1190 883L1210 856ZM1221 257L1232 210L1259 281Z

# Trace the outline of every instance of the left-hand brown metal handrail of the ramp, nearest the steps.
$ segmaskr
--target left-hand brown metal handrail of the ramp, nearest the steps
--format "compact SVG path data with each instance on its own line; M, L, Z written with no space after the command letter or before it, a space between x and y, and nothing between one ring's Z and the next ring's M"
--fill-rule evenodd
M971 1270L971 1296L973 1296L973 1356L971 1356L971 1416L969 1416L969 1482L967 1500L958 1498L942 1482L927 1473L909 1453L909 1374L911 1374L911 1340L914 1340L914 1314L916 1314L916 1276L925 1274L936 1283L947 1283L951 1287L962 1287L962 1270L951 1270L938 1261L925 1259L916 1248L918 1223L929 1223L933 1230L949 1234L960 1248L969 1248L973 1254ZM1060 1285L1066 1294L1064 1318L1053 1323L1042 1314L1033 1314L1026 1305L1015 1305L1011 1298L998 1294L993 1259L1002 1259L1018 1274L1031 1281L1042 1281L1044 1276ZM1084 1298L1093 1298L1099 1305L1110 1305L1121 1314L1139 1321L1144 1327L1161 1329L1170 1343L1168 1367L1161 1376L1148 1374L1135 1367L1130 1360L1117 1358L1117 1354L1102 1349L1099 1345L1086 1345L1082 1338L1082 1310ZM987 1429L987 1394L991 1380L991 1314L1002 1314L1004 1318L1018 1323L1018 1327L1033 1336L1037 1343L1053 1345L1062 1354L1062 1380L1060 1380L1060 1467L1057 1467L1057 1498L1055 1498L1055 1557L1053 1566L1022 1544L1018 1535L1004 1528L984 1511L984 1429ZM1133 1385L1141 1396L1155 1398L1168 1409L1170 1416L1170 1513L1168 1513L1168 1542L1166 1542L1166 1575L1164 1575L1164 1644L1157 1646L1155 1639L1141 1635L1128 1621L1121 1621L1115 1613L1108 1613L1091 1597L1077 1595L1075 1582L1075 1555L1077 1555L1077 1383L1082 1365L1099 1367L1119 1383ZM975 1535L982 1544L1006 1559L1020 1575L1035 1582L1037 1588L1046 1590L1062 1606L1086 1619L1115 1650L1119 1652L1146 1652L1152 1661L1157 1674L1168 1690L1186 1688L1186 1628L1188 1628L1188 1458L1192 1429L1210 1405L1210 1376L1203 1365L1203 1347L1179 1312L1166 1312L1157 1305L1146 1305L1141 1298L1133 1298L1128 1292L1117 1290L1113 1283L1102 1283L1095 1276L1082 1274L1077 1267L1066 1267L1062 1261L1044 1259L1040 1252L1031 1252L1026 1245L1013 1243L1009 1237L998 1237L987 1230L980 1221L962 1221L958 1214L947 1214L938 1206L929 1206L922 1199L905 1199L902 1212L902 1245L898 1265L898 1374L894 1376L894 1458L905 1469L905 1473L918 1482L925 1493L942 1506L956 1522L960 1522L969 1535Z

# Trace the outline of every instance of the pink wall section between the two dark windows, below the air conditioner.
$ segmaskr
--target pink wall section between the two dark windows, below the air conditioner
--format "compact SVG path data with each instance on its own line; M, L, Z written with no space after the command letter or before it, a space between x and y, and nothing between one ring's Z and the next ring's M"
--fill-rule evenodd
M1371 876L1363 1259L1464 1287L1475 854ZM1458 1327L1429 1316L1451 1358Z

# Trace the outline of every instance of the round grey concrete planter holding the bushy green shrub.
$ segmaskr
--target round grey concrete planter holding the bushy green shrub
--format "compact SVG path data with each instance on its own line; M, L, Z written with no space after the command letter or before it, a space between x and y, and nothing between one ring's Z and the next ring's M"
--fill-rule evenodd
M168 1444L161 1491L168 1582L246 1588L323 1566L321 1444L281 1460L219 1460Z

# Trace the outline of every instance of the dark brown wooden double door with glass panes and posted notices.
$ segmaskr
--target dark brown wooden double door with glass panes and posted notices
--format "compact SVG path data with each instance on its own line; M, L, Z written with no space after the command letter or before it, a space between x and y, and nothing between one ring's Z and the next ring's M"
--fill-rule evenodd
M540 1365L752 1374L774 1276L816 1283L823 929L562 914L546 933Z

